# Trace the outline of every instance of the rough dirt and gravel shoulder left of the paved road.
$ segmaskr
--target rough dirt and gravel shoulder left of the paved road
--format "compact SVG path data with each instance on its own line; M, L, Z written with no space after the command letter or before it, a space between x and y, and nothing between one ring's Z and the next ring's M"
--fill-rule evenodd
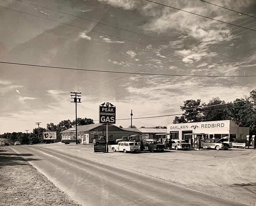
M9 147L0 148L0 202L3 206L80 206ZM30 158L33 158L31 156Z

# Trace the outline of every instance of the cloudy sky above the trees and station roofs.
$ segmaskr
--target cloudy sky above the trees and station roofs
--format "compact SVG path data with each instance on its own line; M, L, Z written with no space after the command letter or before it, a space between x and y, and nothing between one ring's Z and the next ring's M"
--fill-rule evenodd
M116 125L166 126L187 99L233 101L256 89L255 0L0 0L0 134L116 106ZM241 13L238 13L241 12ZM245 14L254 16L250 17ZM216 20L231 23L226 24ZM241 27L250 29L245 29ZM241 77L242 76L242 77Z

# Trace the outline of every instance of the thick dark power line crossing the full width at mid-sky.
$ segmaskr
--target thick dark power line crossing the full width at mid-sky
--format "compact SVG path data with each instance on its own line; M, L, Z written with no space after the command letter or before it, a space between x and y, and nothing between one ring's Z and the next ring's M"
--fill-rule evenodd
M14 62L6 62L6 61L0 61L0 63L20 65L20 66L30 66L30 67L43 67L43 68L55 68L55 69L68 69L68 70L76 70L76 71L90 71L90 72L118 73L118 74L132 74L132 75L188 76L188 77L255 77L256 76L256 75L226 75L226 76L225 75L173 75L173 74L104 71L104 70L96 70L96 69L79 69L79 68L71 68L71 67L53 67L53 66L44 66L44 65L36 65L36 64L22 64L22 63L14 63Z

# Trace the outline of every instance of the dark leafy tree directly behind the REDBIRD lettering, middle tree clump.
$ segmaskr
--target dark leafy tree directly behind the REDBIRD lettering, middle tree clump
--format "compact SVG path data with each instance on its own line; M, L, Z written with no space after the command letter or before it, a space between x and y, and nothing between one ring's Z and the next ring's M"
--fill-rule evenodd
M214 106L216 105L216 106ZM231 105L232 106L232 105ZM230 112L227 109L230 107L229 104L225 104L225 101L219 97L212 98L208 104L202 104L203 121L220 121L229 120Z

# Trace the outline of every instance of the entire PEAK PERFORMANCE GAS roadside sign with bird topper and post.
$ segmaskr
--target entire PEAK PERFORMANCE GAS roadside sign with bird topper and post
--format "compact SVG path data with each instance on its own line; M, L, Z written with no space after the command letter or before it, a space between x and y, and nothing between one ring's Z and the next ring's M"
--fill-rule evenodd
M116 106L109 102L99 105L99 123L106 124L106 152L108 153L108 124L116 123Z

